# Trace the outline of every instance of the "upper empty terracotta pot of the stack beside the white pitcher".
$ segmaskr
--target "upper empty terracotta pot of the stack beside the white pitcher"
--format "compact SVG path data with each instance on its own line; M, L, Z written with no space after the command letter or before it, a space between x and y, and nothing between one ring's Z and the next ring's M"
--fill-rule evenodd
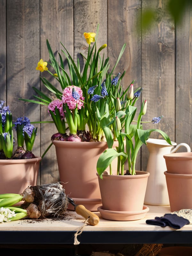
M192 174L192 152L180 152L163 156L167 172Z

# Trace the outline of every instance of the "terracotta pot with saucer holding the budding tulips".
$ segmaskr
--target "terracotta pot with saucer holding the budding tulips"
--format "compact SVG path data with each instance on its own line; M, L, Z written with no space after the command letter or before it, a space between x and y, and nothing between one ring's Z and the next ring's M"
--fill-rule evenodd
M98 180L102 206L101 216L108 220L139 220L149 208L143 206L149 172L136 171L136 175L108 175ZM117 213L117 215L115 215Z

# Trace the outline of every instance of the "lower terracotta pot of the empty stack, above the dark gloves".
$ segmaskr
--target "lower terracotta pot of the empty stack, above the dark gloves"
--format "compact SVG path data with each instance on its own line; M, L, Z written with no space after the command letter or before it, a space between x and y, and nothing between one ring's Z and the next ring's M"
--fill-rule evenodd
M164 172L172 212L192 209L192 174Z

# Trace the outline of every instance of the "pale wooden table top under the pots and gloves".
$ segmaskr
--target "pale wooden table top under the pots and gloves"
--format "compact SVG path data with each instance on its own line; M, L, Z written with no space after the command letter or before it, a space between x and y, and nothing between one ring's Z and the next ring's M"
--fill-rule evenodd
M171 233L173 233L172 231L176 231L174 232L174 236L177 236L177 238L175 237L175 239L178 241L180 241L180 243L189 243L186 240L186 234L188 234L187 232L192 232L192 225L185 225L184 227L180 228L180 229L174 229L171 228L169 226L167 227L160 227L160 226L155 226L155 225L148 225L146 224L146 220L148 219L154 219L156 216L160 217L163 216L165 213L170 212L170 206L151 206L148 205L149 207L149 212L147 212L145 218L141 219L141 220L133 220L133 221L112 221L112 220L105 220L101 218L101 215L99 212L95 212L99 218L100 218L100 222L98 225L96 226L91 226L91 225L85 225L83 228L83 232L82 235L86 235L86 239L90 241L89 243L96 242L96 240L98 241L98 243L100 243L99 241L102 239L101 236L102 234L111 234L110 236L112 236L112 234L118 234L118 235L125 235L125 234L141 234L143 233L143 235L150 235L151 234L151 238L149 238L150 236L148 236L148 239L150 241L152 241L152 237L154 237L154 235L160 234L162 236L162 234L169 234L169 236L171 237ZM38 236L39 233L43 232L43 233L49 233L52 232L54 233L54 235L56 235L57 233L62 232L62 234L74 234L76 233L76 231L81 228L84 225L84 219L83 217L81 217L80 215L77 215L77 213L75 211L67 211L66 212L66 219L57 219L57 218L52 218L52 219L43 219L43 220L29 220L29 219L23 219L23 220L17 220L17 221L11 221L11 222L4 222L4 223L0 223L0 235L1 234L16 234L18 233L19 235L24 234L23 232L27 232L31 234L36 233L36 235ZM160 232L157 232L160 231ZM181 233L180 231L184 231L182 232L182 234L185 234L185 237L183 237L181 239L179 233ZM186 232L185 232L186 231ZM132 232L132 233L130 233ZM162 233L164 232L164 233ZM176 234L177 233L177 234ZM7 234L7 236L9 236ZM99 234L100 235L100 239L96 239L94 238L95 235ZM81 235L81 236L82 236ZM94 235L92 238L91 236ZM158 235L158 236L160 236ZM192 233L191 233L192 235ZM106 237L106 236L104 236ZM169 238L170 238L169 237ZM187 236L188 237L188 236ZM191 237L191 236L190 236ZM55 238L56 239L56 238ZM96 239L96 240L94 240ZM135 237L135 241L136 242L137 237ZM139 238L138 238L139 239ZM141 238L140 238L141 239ZM144 236L142 236L143 241L145 242ZM159 242L163 242L165 238L154 238L158 243ZM180 240L181 239L181 240ZM1 239L0 239L1 240ZM107 239L108 240L108 239ZM113 240L113 239L112 239ZM111 240L111 241L112 241ZM171 238L172 240L172 238ZM169 241L169 243L171 242L171 240ZM177 242L175 240L175 243ZM115 239L116 242L122 242L123 240L120 240L120 238ZM148 241L148 240L146 240ZM150 242L148 241L148 242ZM153 241L153 243L154 243ZM166 240L168 241L168 240ZM6 243L6 240L4 239L3 241L1 241L0 243ZM13 238L12 238L12 242L13 242ZM44 241L45 242L45 241ZM53 243L55 243L55 240L53 238L52 240ZM60 242L64 242L64 241L60 241ZM65 241L67 243L67 241ZM139 241L140 242L140 241ZM142 243L144 243L142 242ZM172 241L173 242L173 241ZM35 240L34 240L35 243ZM39 242L40 243L40 242ZM43 243L43 241L42 241ZM69 242L71 243L71 242ZM85 243L85 241L84 241ZM103 241L103 243L107 243L107 241Z

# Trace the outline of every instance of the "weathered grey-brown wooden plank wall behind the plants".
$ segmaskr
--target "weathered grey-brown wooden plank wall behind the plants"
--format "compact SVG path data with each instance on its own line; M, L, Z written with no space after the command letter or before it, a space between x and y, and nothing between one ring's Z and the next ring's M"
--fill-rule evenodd
M48 60L46 39L55 53L61 52L61 41L76 60L88 48L83 33L96 32L99 23L97 45L108 44L105 52L111 66L127 44L115 73L126 70L124 87L135 79L135 88L144 88L140 100L148 100L148 111L143 121L164 115L155 127L167 132L172 141L192 147L192 10L187 8L182 24L175 27L166 4L167 0L1 0L0 100L10 105L14 119L25 115L33 122L50 121L46 107L18 100L33 99L32 86L44 91L35 68L40 58ZM157 11L154 26L136 32L136 21L148 7ZM37 126L34 153L42 155L56 128ZM155 133L151 137L160 138ZM147 160L148 150L143 146L137 169L146 170ZM52 146L42 160L38 183L58 179Z

